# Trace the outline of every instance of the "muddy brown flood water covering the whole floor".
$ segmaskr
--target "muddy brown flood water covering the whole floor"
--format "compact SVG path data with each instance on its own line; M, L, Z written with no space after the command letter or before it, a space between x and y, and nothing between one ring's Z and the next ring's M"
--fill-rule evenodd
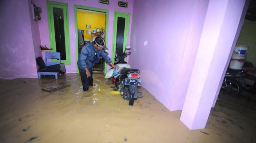
M256 102L219 95L205 129L189 130L143 88L133 106L94 71L83 91L78 74L0 79L0 143L256 143ZM55 92L42 89L56 84Z

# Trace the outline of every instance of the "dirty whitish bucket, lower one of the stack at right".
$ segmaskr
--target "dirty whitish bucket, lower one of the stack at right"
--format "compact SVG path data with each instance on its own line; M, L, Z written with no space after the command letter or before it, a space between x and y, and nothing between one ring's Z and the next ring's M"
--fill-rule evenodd
M246 55L233 54L229 63L229 68L232 70L242 70L245 59Z

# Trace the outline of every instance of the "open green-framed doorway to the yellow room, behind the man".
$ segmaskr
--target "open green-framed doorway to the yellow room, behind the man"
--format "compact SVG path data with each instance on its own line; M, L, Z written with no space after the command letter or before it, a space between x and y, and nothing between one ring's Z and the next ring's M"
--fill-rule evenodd
M76 61L78 60L82 47L94 41L96 37L105 39L107 45L108 32L108 11L92 7L75 5L75 31L76 31ZM105 61L100 62L100 70L106 72L107 64ZM78 73L78 68L76 69Z

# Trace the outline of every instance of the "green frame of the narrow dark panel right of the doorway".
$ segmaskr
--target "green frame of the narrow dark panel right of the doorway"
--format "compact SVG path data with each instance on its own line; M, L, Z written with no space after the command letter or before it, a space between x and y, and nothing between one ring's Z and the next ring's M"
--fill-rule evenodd
M130 14L114 11L114 27L113 27L113 46L112 46L112 63L114 63L114 57L116 53L116 32L117 32L117 19L118 17L125 18L125 28L123 34L123 52L126 45L128 44L128 34L129 34L129 23L130 23ZM126 61L126 58L125 58Z

